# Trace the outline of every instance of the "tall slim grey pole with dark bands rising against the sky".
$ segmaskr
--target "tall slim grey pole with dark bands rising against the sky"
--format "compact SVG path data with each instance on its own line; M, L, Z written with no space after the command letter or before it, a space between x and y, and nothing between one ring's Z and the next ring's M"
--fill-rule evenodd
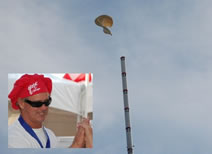
M126 126L126 136L127 136L127 151L128 154L133 154L133 146L131 139L131 126L130 126L130 112L128 104L128 90L127 90L127 73L125 67L125 57L121 58L121 72L122 72L122 88L123 88L123 98L124 98L124 112L125 112L125 126Z

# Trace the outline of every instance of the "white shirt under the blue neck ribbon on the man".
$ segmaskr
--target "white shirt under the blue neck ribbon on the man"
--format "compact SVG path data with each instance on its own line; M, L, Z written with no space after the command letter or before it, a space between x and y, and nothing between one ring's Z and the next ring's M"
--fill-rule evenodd
M48 128L45 128L49 140L50 140L50 147L56 148L57 147L57 137ZM36 133L38 138L40 139L43 147L46 147L47 137L44 133L43 128L33 129ZM37 140L32 137L20 124L18 120L16 120L12 125L8 128L8 148L41 148L40 144Z

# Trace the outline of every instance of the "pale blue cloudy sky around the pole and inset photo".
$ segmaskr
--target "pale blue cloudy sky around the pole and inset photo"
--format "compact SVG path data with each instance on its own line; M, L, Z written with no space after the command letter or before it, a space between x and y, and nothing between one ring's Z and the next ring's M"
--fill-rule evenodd
M134 153L211 154L211 27L211 0L0 0L1 153L127 153L126 56ZM93 73L93 149L7 148L7 75L24 72Z

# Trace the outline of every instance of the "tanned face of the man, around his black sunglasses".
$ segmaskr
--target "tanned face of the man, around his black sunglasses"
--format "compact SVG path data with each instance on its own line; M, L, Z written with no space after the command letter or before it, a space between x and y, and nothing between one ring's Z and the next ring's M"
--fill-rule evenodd
M27 100L29 101L41 101L44 102L49 99L49 93L39 93L33 96L27 97ZM44 104L41 107L32 107L30 104L27 104L26 102L22 101L22 116L27 120L29 120L32 123L39 123L41 124L47 114L48 114L48 106L45 106Z

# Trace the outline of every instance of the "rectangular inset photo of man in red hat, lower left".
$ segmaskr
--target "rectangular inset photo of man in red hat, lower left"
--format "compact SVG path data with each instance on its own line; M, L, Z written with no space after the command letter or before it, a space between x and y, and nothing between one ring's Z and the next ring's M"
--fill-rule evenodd
M8 148L92 148L92 73L8 74Z

